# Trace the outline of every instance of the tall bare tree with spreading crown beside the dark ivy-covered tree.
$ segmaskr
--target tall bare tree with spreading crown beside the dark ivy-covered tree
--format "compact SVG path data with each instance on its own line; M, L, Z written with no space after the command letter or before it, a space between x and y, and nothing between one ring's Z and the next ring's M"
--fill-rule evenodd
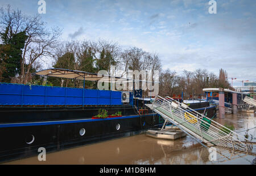
M9 38L23 31L28 36L23 49L22 61L20 61L22 68L20 83L26 84L35 61L38 59L44 61L52 55L53 49L58 44L57 39L61 30L57 27L47 29L39 15L24 15L20 10L13 10L10 6L0 9L0 22L2 29L9 29L7 31Z

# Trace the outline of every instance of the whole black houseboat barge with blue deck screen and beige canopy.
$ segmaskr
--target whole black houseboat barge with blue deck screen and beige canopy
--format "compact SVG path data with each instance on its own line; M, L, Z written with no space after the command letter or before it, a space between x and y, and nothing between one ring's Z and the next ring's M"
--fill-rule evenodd
M35 74L84 81L104 77L61 68ZM54 152L141 134L163 124L160 115L134 102L134 93L126 91L0 83L0 162L35 156L40 147ZM206 110L208 117L215 113L209 104L193 106ZM99 109L122 115L93 118Z

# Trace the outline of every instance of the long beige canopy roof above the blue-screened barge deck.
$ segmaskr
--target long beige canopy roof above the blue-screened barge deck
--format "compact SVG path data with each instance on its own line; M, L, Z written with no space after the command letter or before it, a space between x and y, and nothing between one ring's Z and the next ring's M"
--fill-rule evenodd
M79 71L79 70L68 70L64 68L49 68L46 70L41 70L35 72L34 74L40 76L52 76L58 78L69 78L78 80L88 80L88 81L122 81L122 82L132 82L132 81L147 81L147 80L135 80L131 78L121 78L110 75L98 75L91 72ZM152 82L152 81L147 81ZM154 82L154 81L153 81Z

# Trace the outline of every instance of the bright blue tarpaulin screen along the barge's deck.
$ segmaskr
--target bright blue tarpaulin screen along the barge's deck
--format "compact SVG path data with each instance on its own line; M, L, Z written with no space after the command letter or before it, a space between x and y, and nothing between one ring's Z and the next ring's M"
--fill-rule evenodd
M122 105L122 92L0 83L0 105Z

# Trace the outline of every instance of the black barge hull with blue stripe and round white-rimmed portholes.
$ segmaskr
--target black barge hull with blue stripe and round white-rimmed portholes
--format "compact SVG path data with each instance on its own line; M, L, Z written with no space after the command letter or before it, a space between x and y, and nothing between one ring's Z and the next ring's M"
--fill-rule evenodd
M131 106L104 106L104 108L109 110L109 114L112 114L112 111L114 113L122 110L123 117L91 119L92 115L97 114L97 107L54 110L49 108L1 109L0 162L36 156L39 154L40 147L46 148L48 153L97 141L136 135L163 123L162 117L152 111L140 117L135 114ZM213 117L214 109L206 110L208 117ZM198 111L203 113L204 109ZM117 129L118 124L119 129ZM81 136L82 128L85 129L85 134Z

